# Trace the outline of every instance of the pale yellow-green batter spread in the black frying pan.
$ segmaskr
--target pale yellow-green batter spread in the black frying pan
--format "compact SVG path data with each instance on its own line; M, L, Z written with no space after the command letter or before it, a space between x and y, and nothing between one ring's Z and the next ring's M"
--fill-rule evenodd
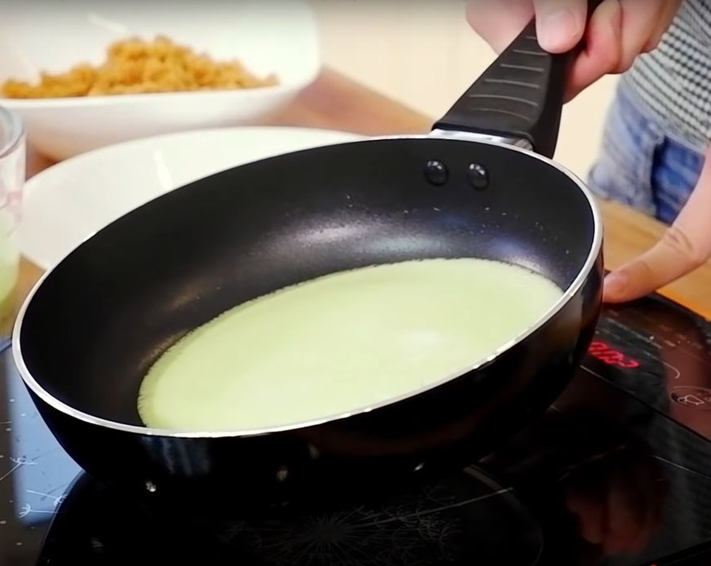
M481 362L561 296L547 278L481 259L334 273L183 337L144 379L139 413L151 427L242 431L355 411Z

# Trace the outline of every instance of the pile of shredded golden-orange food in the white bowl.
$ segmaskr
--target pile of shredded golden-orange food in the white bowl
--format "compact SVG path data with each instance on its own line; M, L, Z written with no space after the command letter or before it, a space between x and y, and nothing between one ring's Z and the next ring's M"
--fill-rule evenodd
M213 61L205 54L173 43L130 38L107 49L104 63L81 63L66 73L41 73L38 83L6 80L6 98L68 98L191 90L233 90L279 84L276 75L257 78L239 61Z

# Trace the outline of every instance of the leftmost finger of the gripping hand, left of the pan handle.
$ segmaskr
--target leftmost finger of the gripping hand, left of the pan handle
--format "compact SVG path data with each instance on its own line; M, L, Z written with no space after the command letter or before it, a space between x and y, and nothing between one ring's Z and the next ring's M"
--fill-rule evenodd
M469 25L496 53L501 53L531 18L531 0L469 0L466 4Z

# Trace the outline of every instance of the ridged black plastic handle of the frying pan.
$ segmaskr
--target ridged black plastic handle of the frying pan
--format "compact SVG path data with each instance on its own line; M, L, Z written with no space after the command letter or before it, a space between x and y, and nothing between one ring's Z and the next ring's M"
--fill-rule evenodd
M589 1L588 14L602 3ZM553 157L573 51L552 55L538 44L535 20L435 122L433 132L467 132ZM444 130L444 131L443 131Z

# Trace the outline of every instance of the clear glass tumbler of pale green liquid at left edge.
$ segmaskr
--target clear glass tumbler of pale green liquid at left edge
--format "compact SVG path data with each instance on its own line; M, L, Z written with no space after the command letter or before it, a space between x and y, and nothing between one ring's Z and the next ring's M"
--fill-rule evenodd
M14 112L0 107L0 337L9 334L20 268L18 224L25 183L25 130Z

